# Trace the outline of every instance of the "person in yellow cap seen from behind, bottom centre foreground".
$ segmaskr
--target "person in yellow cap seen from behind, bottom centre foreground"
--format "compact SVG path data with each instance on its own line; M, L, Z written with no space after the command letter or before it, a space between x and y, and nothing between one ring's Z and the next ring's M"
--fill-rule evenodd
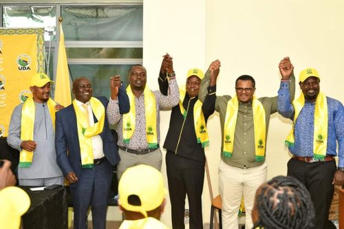
M118 183L118 203L125 215L120 229L166 229L159 221L166 193L156 168L144 164L127 168Z

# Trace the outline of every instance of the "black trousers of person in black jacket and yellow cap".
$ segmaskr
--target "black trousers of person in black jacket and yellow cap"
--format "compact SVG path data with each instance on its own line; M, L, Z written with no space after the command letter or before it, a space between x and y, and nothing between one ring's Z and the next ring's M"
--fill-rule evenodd
M204 183L204 163L166 153L166 172L171 199L172 227L183 229L185 197L188 195L190 219L189 228L203 228L202 191Z

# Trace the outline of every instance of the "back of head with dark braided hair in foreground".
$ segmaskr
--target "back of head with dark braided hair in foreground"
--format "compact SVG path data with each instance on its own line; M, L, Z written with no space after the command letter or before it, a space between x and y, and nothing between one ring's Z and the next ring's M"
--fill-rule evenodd
M294 177L274 177L258 188L252 220L253 228L311 228L314 207L310 193Z

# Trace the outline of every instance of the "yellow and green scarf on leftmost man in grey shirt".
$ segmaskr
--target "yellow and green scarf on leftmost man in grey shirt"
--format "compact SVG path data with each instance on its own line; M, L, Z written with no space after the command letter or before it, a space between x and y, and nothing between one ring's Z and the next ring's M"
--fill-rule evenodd
M56 103L49 98L47 100L47 108L49 109L50 117L52 117L52 126L55 131L55 105ZM34 117L35 117L34 99L29 97L23 103L21 110L21 140L33 141L34 140ZM22 149L19 156L19 168L30 168L32 164L33 152L25 151Z

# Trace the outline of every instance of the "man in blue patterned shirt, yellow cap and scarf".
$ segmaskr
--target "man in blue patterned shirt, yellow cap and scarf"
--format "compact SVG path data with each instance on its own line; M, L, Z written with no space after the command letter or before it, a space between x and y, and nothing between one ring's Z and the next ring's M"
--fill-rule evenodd
M281 68L280 68L281 69ZM291 74L281 69L282 75ZM344 184L344 108L340 101L320 91L320 76L314 68L303 69L301 95L290 100L288 84L279 89L279 113L293 120L286 139L293 157L288 175L296 177L308 190L316 212L314 228L335 228L328 220L334 184ZM338 169L336 143L338 142Z

